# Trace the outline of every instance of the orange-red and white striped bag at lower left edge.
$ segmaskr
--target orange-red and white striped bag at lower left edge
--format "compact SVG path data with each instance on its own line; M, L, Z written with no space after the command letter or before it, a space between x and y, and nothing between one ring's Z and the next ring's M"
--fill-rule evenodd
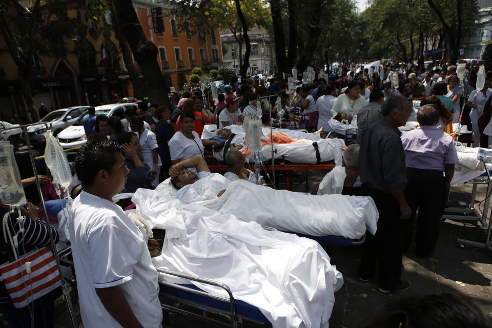
M25 263L31 262L31 273ZM33 250L16 261L0 265L0 273L15 308L24 308L35 299L61 286L53 252L47 247Z

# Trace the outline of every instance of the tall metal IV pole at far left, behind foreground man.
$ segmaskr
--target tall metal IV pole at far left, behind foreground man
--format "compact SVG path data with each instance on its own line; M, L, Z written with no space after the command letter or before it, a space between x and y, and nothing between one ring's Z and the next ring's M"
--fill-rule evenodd
M14 129L22 129L22 131L24 133L24 137L26 138L27 150L29 151L29 159L31 160L31 166L32 166L32 171L34 173L34 180L36 182L37 192L39 194L39 199L41 200L41 204L43 206L43 213L45 214L45 221L46 221L46 224L47 224L47 226L49 228L50 227L50 221L48 219L48 211L46 210L45 200L43 199L43 192L41 191L41 185L40 185L39 179L37 177L36 163L34 162L34 156L32 154L31 141L29 139L29 133L27 132L27 128L28 127L30 127L30 126L38 126L38 125L43 125L43 124L46 126L46 129L48 129L48 128L51 129L51 127L48 127L48 124L47 123L39 123L38 122L38 123L23 125L23 126L20 126L20 127L2 129L2 130L0 130L0 132L1 131L7 131L7 130L14 130ZM53 255L55 256L55 260L56 260L56 267L58 269L58 272L60 274L60 277L62 277L62 275L61 275L60 259L58 258L58 253L56 251L56 245L55 245L55 241L53 239L53 234L51 233L51 229L47 229L47 230L48 230L48 236L50 238L51 250L53 251ZM69 316L70 316L70 323L72 325L72 328L76 328L77 327L77 323L75 322L75 314L73 312L72 300L70 299L70 292L68 290L67 283L65 282L65 280L63 279L63 277L61 278L61 291L63 292L63 297L65 299L65 304L67 305L67 310L68 310L68 313L69 313Z

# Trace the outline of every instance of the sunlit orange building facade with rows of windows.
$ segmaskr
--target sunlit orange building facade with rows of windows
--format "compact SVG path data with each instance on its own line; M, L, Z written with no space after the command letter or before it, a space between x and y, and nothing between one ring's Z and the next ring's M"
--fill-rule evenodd
M194 33L193 20L190 20L187 28L179 31L176 20L166 17L166 8L156 1L134 0L133 6L145 36L159 49L157 60L162 74L176 90L182 90L187 84L193 68L201 67L204 72L219 68L222 49L218 29ZM152 17L152 9L156 7L162 10L163 31L159 33L154 31Z

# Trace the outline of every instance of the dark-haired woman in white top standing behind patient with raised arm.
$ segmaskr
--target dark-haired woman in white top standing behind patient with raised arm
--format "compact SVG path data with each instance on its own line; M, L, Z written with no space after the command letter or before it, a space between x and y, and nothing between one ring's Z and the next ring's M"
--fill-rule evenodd
M198 133L193 131L195 114L192 111L183 112L180 116L180 122L180 130L169 140L172 165L196 155L203 156L204 146L220 143L215 140L200 139Z

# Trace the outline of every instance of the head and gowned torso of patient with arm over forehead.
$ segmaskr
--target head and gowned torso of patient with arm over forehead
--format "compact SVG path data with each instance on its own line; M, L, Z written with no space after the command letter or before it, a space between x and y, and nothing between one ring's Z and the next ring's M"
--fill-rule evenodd
M195 168L197 173L189 168ZM169 169L169 176L174 188L178 190L176 198L182 203L220 197L229 184L223 175L211 173L201 156L193 156L173 165Z

